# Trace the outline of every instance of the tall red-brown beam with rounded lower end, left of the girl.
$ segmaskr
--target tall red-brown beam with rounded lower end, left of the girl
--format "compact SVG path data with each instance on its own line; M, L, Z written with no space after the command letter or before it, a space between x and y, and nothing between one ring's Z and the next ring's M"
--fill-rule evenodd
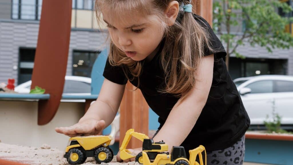
M50 94L38 102L38 125L49 123L62 98L71 32L72 1L43 0L31 89Z

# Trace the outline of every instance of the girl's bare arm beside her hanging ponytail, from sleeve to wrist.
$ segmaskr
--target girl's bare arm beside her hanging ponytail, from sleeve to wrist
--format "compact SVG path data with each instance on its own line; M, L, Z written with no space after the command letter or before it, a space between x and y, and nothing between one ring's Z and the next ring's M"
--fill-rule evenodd
M164 140L169 146L179 146L194 127L208 98L212 85L214 55L203 57L195 74L197 81L189 95L175 104L168 118L154 137L155 142ZM172 147L169 147L169 151Z

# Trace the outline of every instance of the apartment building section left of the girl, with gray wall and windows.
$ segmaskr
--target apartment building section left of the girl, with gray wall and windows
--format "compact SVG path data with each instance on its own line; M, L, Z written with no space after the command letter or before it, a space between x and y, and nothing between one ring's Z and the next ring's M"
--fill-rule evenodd
M93 0L72 0L67 75L90 77L105 48L106 33L98 30L93 5ZM31 79L41 10L42 0L0 0L0 82Z

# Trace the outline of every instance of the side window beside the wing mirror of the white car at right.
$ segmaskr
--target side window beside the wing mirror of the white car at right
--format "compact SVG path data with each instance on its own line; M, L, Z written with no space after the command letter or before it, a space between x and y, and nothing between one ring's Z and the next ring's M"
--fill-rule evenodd
M251 89L251 93L272 93L273 92L273 81L272 80L262 80L255 81L246 86Z

